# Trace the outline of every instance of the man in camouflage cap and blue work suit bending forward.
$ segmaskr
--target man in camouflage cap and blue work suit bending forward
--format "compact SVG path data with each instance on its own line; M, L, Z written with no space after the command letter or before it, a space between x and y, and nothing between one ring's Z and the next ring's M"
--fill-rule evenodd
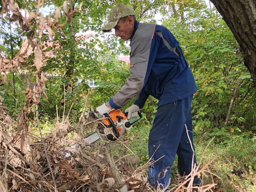
M156 161L150 166L149 181L154 187L169 189L176 154L180 175L191 172L194 150L191 101L197 90L193 74L172 33L164 26L139 23L129 6L112 8L103 31L109 32L112 28L116 36L131 41L130 78L96 110L104 114L111 108L121 108L135 97L134 104L125 111L130 119L143 108L149 95L159 100L148 140L149 157ZM195 157L193 161L196 164ZM194 184L199 185L200 179L196 177Z

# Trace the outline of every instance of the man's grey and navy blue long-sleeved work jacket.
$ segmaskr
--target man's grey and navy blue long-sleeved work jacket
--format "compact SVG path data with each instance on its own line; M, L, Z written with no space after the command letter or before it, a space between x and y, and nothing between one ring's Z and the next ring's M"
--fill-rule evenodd
M130 51L130 78L110 100L119 109L135 97L142 108L149 95L158 107L194 94L197 86L179 42L164 26L134 25Z

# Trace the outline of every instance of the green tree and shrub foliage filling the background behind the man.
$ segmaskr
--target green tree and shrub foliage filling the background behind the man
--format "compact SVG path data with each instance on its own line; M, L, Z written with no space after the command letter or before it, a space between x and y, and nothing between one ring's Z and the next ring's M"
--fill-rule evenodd
M72 26L67 23L68 28L63 27L66 37L56 33L53 39L42 39L44 42L53 42L52 46L45 44L46 49L43 52L52 51L55 55L46 58L47 64L43 67L43 72L48 75L46 93L51 103L47 104L42 100L44 114L55 117L56 105L62 113L65 101L65 107L68 109L73 103L71 116L80 116L89 91L86 80L94 80L98 85L98 88L90 90L88 102L92 108L108 101L122 88L129 77L129 66L118 61L117 56L119 53L128 54L129 49L123 40L101 31L110 8L120 3L130 4L130 1L119 0L110 4L101 0L93 3L78 1L75 7L80 12L74 14ZM54 4L60 6L62 2L55 1ZM233 134L255 131L253 117L256 92L250 74L243 64L238 43L226 23L216 13L216 9L208 9L202 0L177 1L175 4L161 0L142 1L134 2L133 7L136 18L142 22L153 22L154 12L162 14L162 24L170 29L180 42L198 86L192 103L195 130L212 132L214 128L223 128L237 82L242 79L234 96L227 127L224 129L229 132L231 128L234 129L235 131L231 132ZM30 5L28 9L33 8L34 5ZM10 28L8 24L7 20L2 21L4 28ZM94 30L96 39L90 42L78 39L76 34L87 30ZM15 48L20 45L20 37L16 34L19 34L18 28L12 30L11 36L8 31L1 32L3 43L7 45L4 48L9 56L10 45L13 46L14 53L18 51ZM106 36L108 38L105 38L104 42L97 39ZM30 71L35 68L31 59L26 58L27 62L22 68L28 70L28 75L32 75ZM8 78L11 80L12 75L8 74ZM10 95L6 97L5 102L11 106L12 113L16 110L16 114L24 102L20 92L25 87L19 79L24 81L24 77L15 78L17 107L16 103L12 102L12 86L6 85L2 90L3 96ZM132 102L133 100L124 106L123 110ZM152 114L155 114L156 110L157 100L150 97L142 109L150 123L154 120Z

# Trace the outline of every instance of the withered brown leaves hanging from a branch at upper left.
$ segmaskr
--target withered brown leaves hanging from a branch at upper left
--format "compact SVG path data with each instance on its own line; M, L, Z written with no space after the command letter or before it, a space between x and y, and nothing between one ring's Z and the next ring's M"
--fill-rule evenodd
M8 10L8 5L9 9ZM45 94L45 82L47 81L47 78L42 73L42 67L44 66L43 58L42 58L42 48L39 40L35 40L35 31L36 31L36 23L38 26L38 36L46 35L44 34L44 29L48 32L48 36L52 37L54 35L54 32L52 30L52 26L55 26L56 29L59 29L63 32L61 29L62 26L64 26L68 20L68 17L72 20L72 17L70 17L74 10L71 12L68 11L67 8L67 2L65 1L63 4L64 13L66 16L66 22L60 24L59 19L61 17L60 10L56 9L55 15L54 15L54 23L52 22L50 16L47 17L47 20L44 18L43 14L38 13L39 7L42 6L42 3L38 1L37 5L37 12L30 11L27 18L27 10L24 9L25 14L22 16L20 12L20 8L14 0L2 0L2 16L3 14L8 14L8 12L12 12L12 16L10 17L11 22L18 21L20 24L20 28L23 32L27 32L27 38L23 39L22 41L22 47L20 48L20 51L16 56L10 60L8 56L3 57L0 50L0 74L2 78L0 79L0 85L3 85L4 83L7 83L7 74L11 70L18 70L22 64L25 62L24 58L29 57L30 55L34 54L34 66L36 66L36 72L34 74L36 75L36 84L31 89L29 80L28 86L26 90L23 92L26 96L26 102L24 103L24 106L22 108L22 115L18 121L18 132L14 135L14 138L12 139L12 142L16 139L16 137L19 137L19 141L21 144L21 150L23 150L25 141L26 141L26 134L28 134L28 125L26 123L27 116L31 112L31 108L35 105L40 104L40 96L43 95L46 101L48 102L48 98ZM72 6L70 6L72 7ZM38 19L39 17L39 19ZM2 19L2 18L1 18ZM63 33L64 34L64 33ZM49 102L48 102L49 103Z

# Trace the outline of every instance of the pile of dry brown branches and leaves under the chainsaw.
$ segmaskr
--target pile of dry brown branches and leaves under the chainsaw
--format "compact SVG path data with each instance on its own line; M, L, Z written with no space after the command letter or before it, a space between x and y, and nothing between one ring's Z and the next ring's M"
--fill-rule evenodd
M3 111L3 110L2 110ZM1 126L6 118L1 114ZM88 118L84 129L92 128L97 120ZM59 129L60 128L60 129ZM78 128L78 126L77 126ZM68 132L72 128L67 121L57 124L43 139L29 134L21 144L21 135L13 140L13 134L1 130L0 134L0 191L122 191L141 192L146 190L145 172L131 177L140 161L138 156L112 157L109 143L99 142L85 146L82 132ZM78 128L81 129L81 128ZM60 133L59 130L65 130ZM70 148L68 144L79 144ZM98 145L97 145L98 144ZM21 148L23 145L23 148ZM63 157L63 152L72 154Z

